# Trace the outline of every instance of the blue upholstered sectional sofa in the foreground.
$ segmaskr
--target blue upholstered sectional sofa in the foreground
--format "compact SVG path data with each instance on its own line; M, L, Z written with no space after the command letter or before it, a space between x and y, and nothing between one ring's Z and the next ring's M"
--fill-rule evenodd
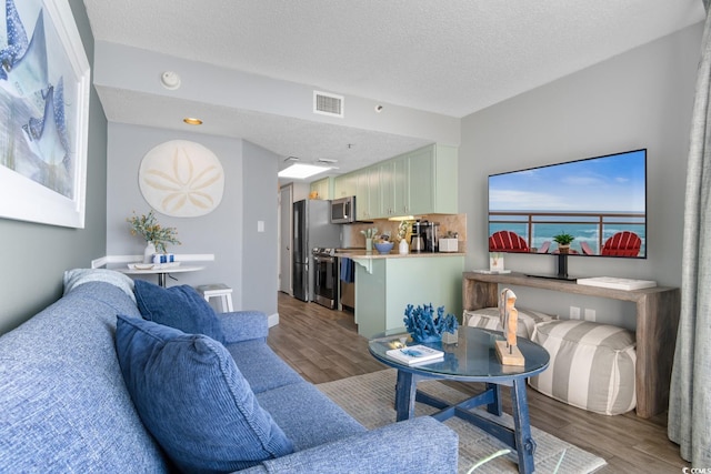
M254 428L254 436L261 438L279 432L277 434L287 440L273 451L281 450L282 454L247 460L241 464L248 465L242 472L457 471L454 432L430 417L365 430L270 350L266 343L267 317L259 312L219 315L223 342L218 343L146 321L137 305L133 283L120 273L70 271L64 283L64 295L58 302L0 337L2 473L236 471L223 466L186 468L168 452L171 448L167 451L154 432L147 428L144 412L133 401L138 395L129 391L129 385L137 381L139 389L149 385L141 384L142 372L131 373L117 355L148 353L152 356L154 349L148 352L130 349L138 337L136 331L142 331L143 326L150 326L147 333L141 333L143 339L161 340L166 334L166 341L182 341L181 344L193 350L207 347L210 355L224 354L227 349L231 359L221 360L220 373L227 373L224 366L232 367L229 376L248 382L246 386L251 392L247 395L253 402L248 404L244 402L248 399L236 399L236 403L249 414L260 411L273 426L269 433ZM119 327L127 329L129 334L121 344L117 341L119 315L122 315ZM152 394L159 397L176 382L173 375L179 377L178 373L169 372L164 386L150 385L149 402ZM133 379L127 384L129 376ZM193 389L190 379L179 383L186 392ZM158 421L177 417L184 422L186 416L194 415L189 412L204 416L200 409L203 403L208 404L211 394L206 392L202 396L194 406L176 406L160 413ZM221 420L216 424L219 422ZM211 423L201 418L198 424L211 435L214 434ZM182 435L180 431L174 434ZM231 435L233 433L222 432L219 440ZM197 445L202 447L200 442ZM268 452L270 448L268 444L259 447ZM284 454L284 450L290 453Z

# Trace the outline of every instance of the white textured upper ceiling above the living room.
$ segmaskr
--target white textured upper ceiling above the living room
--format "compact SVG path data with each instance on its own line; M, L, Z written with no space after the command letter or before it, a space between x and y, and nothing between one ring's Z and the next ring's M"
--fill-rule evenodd
M701 0L84 3L97 40L455 118L703 19ZM111 120L120 101L101 97ZM133 117L156 113L148 98L132 102ZM278 150L272 139L242 138L296 154L286 122Z

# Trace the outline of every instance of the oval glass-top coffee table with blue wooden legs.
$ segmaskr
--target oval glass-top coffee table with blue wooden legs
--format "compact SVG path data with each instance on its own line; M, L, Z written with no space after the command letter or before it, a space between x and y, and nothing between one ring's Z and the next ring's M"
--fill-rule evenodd
M518 337L517 344L523 357L524 366L502 365L497 357L495 341L503 340L500 332L479 327L460 326L458 340L452 344L425 343L424 345L444 352L444 359L421 365L408 365L389 357L385 352L391 349L413 345L410 334L404 329L378 334L369 342L370 353L383 364L398 370L395 385L397 420L409 420L414 416L414 402L425 403L440 411L431 415L444 421L452 416L472 423L492 436L501 440L515 450L519 457L519 472L532 473L533 451L535 442L531 436L529 423L529 405L525 396L525 379L543 372L550 362L550 355L540 345ZM430 396L417 390L421 380L455 380L461 382L483 382L485 390L455 405ZM500 423L497 417L502 414L501 385L511 387L511 405L513 411L513 428ZM485 405L488 416L480 410ZM479 413L477 413L479 412Z

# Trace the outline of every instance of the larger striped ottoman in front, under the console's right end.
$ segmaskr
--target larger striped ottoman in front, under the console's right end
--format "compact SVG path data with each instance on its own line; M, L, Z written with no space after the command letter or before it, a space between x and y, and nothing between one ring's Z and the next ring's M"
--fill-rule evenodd
M551 354L550 366L529 385L569 405L605 415L629 412L634 392L634 334L622 327L562 320L535 326L533 342Z

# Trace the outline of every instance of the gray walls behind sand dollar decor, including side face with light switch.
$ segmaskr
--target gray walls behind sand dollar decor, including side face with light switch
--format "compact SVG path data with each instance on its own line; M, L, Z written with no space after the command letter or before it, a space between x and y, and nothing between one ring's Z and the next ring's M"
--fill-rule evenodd
M236 310L277 313L277 165L278 157L242 140L109 123L107 183L107 254L142 254L144 241L130 234L126 219L148 213L138 183L141 160L169 140L190 140L210 149L224 170L224 194L211 213L174 218L156 213L162 225L178 229L178 254L212 253L214 262L192 273L176 273L169 285L226 283ZM257 232L264 221L264 232ZM147 276L156 282L156 276Z

